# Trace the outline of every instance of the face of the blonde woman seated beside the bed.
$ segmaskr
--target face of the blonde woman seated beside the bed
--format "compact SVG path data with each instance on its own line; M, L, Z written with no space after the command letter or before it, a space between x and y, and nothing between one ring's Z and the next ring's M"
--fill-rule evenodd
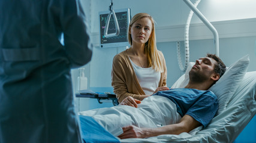
M131 34L132 44L133 43L146 43L152 32L152 22L148 17L140 18L132 24L131 29L129 29L129 34Z

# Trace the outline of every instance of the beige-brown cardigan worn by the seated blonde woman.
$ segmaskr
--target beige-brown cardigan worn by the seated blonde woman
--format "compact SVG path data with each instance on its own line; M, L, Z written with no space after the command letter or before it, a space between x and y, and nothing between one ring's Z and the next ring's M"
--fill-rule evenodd
M167 86L167 68L164 55L160 51L158 51L158 54L163 62L162 65L164 66L164 72L161 73L158 87ZM128 96L139 99L140 95L145 95L140 83L138 83L131 61L129 60L127 50L114 57L111 76L114 93L116 94L119 102L122 102L124 98Z

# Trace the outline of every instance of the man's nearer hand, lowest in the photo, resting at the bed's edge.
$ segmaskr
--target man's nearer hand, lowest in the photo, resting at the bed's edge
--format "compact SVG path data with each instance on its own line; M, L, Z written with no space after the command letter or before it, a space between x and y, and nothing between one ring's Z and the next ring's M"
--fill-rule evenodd
M138 128L137 126L126 126L122 128L124 133L118 136L118 138L146 138L144 129Z

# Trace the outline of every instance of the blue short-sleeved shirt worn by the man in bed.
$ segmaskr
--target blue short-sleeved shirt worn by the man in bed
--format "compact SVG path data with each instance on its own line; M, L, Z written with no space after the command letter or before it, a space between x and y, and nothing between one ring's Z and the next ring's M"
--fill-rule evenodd
M211 91L177 88L159 91L155 95L167 97L176 104L181 117L188 114L204 127L210 123L218 110L218 99Z

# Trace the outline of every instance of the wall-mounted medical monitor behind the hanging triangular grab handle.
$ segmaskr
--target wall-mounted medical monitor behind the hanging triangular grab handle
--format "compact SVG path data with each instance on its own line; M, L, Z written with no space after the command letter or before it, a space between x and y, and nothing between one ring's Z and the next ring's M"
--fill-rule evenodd
M129 27L129 21L131 20L131 11L129 8L114 10L114 11L116 14L116 18L118 19L120 32L118 36L113 36L110 38L106 38L104 36L104 29L106 27L107 17L110 11L101 11L99 13L100 15L100 47L101 48L129 46L129 42L127 39L127 31ZM112 14L110 17L109 29L107 33L109 34L109 33L115 33L115 32L116 32L116 26L115 26L115 21Z

